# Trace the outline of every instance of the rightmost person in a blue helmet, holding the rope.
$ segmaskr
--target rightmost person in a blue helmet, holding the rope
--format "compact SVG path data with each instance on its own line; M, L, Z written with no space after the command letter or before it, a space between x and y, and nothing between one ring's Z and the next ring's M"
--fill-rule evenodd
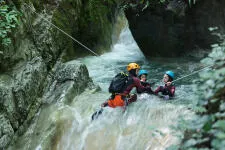
M163 82L164 82L164 86L159 86L154 93L156 95L158 95L159 92L162 93L163 98L168 100L172 97L174 97L175 94L175 86L172 84L173 79L174 79L175 75L173 73L173 71L166 71L166 73L163 76Z

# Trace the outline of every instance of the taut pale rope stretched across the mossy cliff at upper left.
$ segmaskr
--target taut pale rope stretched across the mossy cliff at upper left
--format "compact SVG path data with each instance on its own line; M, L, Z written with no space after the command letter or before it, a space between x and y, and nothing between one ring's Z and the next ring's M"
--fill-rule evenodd
M95 53L93 50L91 50L90 48L88 48L87 46L85 46L84 44L82 44L80 41L78 41L77 39L75 39L74 37L72 37L71 35L69 35L68 33L66 33L65 31L63 31L62 29L60 29L58 26L56 26L55 24L51 23L50 21L48 21L46 18L44 18L43 16L41 16L39 13L37 13L31 6L24 4L24 6L26 8L29 8L33 13L35 13L36 15L38 15L39 17L41 17L43 20L45 20L46 22L48 22L50 25L52 25L53 27L55 27L56 29L58 29L59 31L61 31L63 34L67 35L69 38L71 38L73 41L75 41L76 43L78 43L79 45L81 45L82 47L84 47L86 50L90 51L91 53L93 53L96 56L99 56L97 53Z

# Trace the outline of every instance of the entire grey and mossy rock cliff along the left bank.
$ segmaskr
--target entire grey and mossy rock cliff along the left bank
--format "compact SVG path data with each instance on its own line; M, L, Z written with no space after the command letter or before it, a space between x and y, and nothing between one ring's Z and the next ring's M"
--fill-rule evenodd
M50 23L100 54L112 43L117 4L109 2L7 2L16 6L21 17L19 26L10 35L12 43L8 47L0 46L0 149L13 137L16 139L15 134L23 134L40 106L54 103L61 91L69 100L92 87L85 65L62 63L92 54ZM57 91L57 87L61 89ZM52 89L52 94L46 97Z

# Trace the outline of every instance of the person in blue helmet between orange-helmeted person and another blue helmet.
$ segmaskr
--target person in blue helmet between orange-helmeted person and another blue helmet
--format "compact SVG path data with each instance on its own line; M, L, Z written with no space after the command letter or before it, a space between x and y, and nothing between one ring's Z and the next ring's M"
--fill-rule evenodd
M141 85L144 87L149 87L151 89L151 84L149 82L147 82L147 76L148 76L148 71L146 70L140 70L138 72L138 78L141 81ZM148 91L140 91L137 89L137 93L149 93L149 94L153 94L154 92L152 90L148 90Z

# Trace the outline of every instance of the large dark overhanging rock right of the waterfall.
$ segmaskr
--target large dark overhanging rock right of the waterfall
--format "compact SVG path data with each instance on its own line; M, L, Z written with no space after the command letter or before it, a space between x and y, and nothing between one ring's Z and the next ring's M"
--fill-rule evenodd
M191 7L185 0L155 0L147 8L132 4L125 10L130 30L148 56L180 56L193 49L208 51L219 40L208 28L217 26L218 32L224 32L224 1L199 0Z

